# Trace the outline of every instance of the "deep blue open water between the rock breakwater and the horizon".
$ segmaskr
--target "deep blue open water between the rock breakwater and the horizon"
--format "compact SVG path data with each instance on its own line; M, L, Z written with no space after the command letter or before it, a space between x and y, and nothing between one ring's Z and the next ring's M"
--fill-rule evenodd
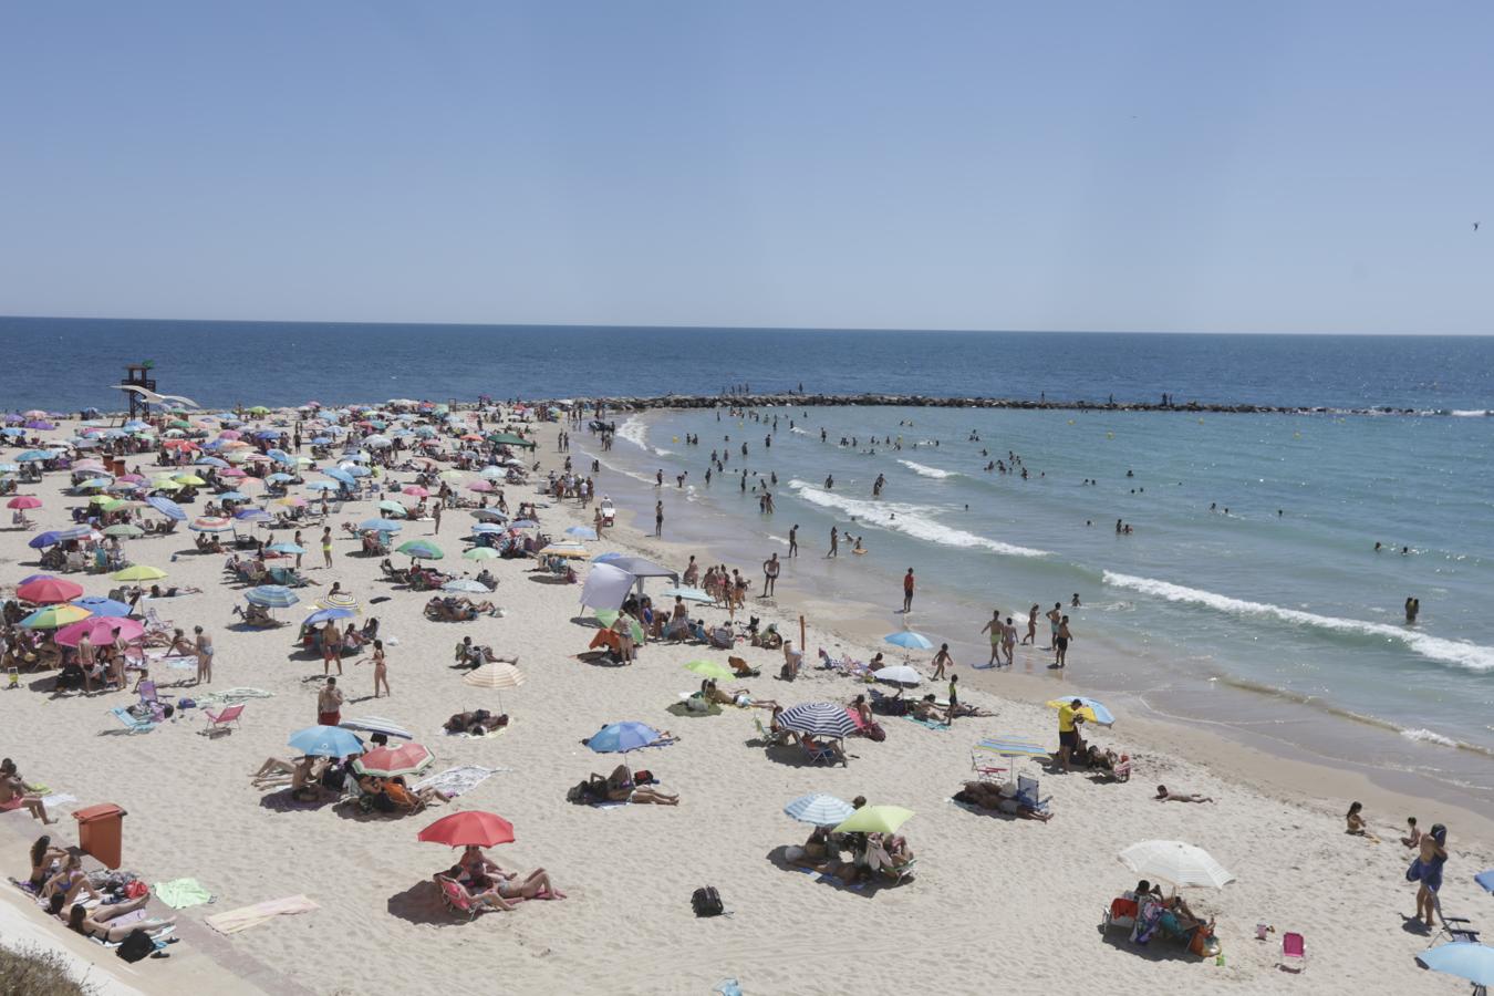
M6 408L118 405L124 364L206 406L895 391L1104 402L1494 408L1494 339L583 329L0 318Z

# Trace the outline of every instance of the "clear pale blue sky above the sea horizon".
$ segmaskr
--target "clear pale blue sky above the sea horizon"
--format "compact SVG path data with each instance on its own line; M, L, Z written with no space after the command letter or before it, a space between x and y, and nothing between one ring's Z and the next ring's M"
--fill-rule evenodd
M1487 0L7 3L0 314L1494 333L1491 52Z

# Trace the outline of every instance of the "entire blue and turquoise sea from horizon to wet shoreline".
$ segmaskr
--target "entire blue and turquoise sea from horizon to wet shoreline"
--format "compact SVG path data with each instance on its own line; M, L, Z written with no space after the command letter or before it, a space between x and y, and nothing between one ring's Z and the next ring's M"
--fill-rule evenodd
M0 318L0 348L4 409L120 408L112 385L143 360L160 391L205 408L740 387L1321 409L734 411L722 397L611 414L611 449L583 430L575 448L650 523L662 472L666 536L717 558L783 555L798 526L786 582L870 605L961 663L986 660L994 609L1025 632L1029 606L1056 602L1074 633L1065 688L1494 812L1490 337ZM1415 414L1351 414L1364 409ZM707 484L713 451L725 470ZM831 527L867 553L843 539L828 560Z

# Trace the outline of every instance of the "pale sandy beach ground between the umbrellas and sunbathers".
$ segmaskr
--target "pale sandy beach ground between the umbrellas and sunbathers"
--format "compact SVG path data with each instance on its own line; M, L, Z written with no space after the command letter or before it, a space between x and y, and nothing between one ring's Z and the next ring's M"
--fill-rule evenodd
M517 424L517 423L515 423ZM57 433L64 439L72 423ZM538 443L530 473L542 481L557 469L557 424L526 426ZM577 436L584 430L575 429ZM130 457L152 476L151 457ZM394 473L397 481L412 473ZM318 479L314 472L308 479ZM28 512L31 529L0 532L0 582L9 597L16 582L37 570L27 541L39 529L69 524L66 472L49 472L22 485L42 500ZM248 488L247 488L248 490ZM605 475L598 491L605 491ZM299 491L299 488L297 488ZM258 491L251 491L258 496ZM197 499L197 505L206 499ZM235 606L245 585L224 573L226 554L199 554L194 533L128 539L136 563L169 572L164 584L202 593L145 602L173 626L203 626L215 645L215 688L248 687L269 693L247 703L239 729L205 736L200 709L187 709L148 733L127 733L109 709L128 693L58 696L51 673L21 675L21 687L0 694L3 753L21 772L54 793L76 799L57 814L54 836L73 842L69 811L99 802L121 805L124 868L148 883L191 877L212 903L179 912L182 944L173 957L125 966L112 953L69 935L19 890L16 906L0 918L0 941L22 917L31 932L61 938L79 959L97 962L142 993L308 992L394 995L438 987L498 987L521 993L707 993L737 978L744 993L956 993L1038 987L1088 992L1097 978L1107 989L1165 987L1173 992L1230 993L1460 993L1466 984L1416 968L1413 956L1430 935L1410 929L1415 884L1404 878L1412 851L1397 842L1403 820L1449 827L1446 884L1449 915L1479 921L1490 897L1473 875L1494 866L1494 827L1440 802L1388 793L1348 775L1295 763L1209 736L1197 729L1137 723L1118 715L1113 729L1089 738L1132 759L1125 784L1101 784L1076 771L1050 772L1035 760L1019 771L1040 776L1050 796L1047 823L982 815L952 802L973 776L971 748L1004 735L1056 748L1056 714L1043 706L1053 682L1041 675L1047 654L1019 648L1013 672L961 666L961 699L994 712L958 718L932 729L883 718L884 742L846 742L846 766L808 766L801 756L766 751L753 720L766 712L726 708L690 715L680 694L699 685L686 662L725 663L726 653L692 644L648 644L632 666L583 663L577 654L595 635L589 609L578 606L581 585L532 572L529 560L459 557L475 521L450 509L439 532L433 521L408 523L396 542L430 538L445 551L438 566L499 578L493 600L503 615L469 623L424 618L429 594L391 587L376 557L359 555L359 541L339 529L378 514L378 496L351 502L329 518L335 560L321 567L315 536L306 529L306 573L312 587L302 603L276 609L290 621L275 630L238 626ZM541 499L533 487L508 487L509 505ZM197 515L193 506L188 514ZM562 538L569 526L590 524L592 509L575 502L539 509L541 527ZM642 526L642 523L638 523ZM651 526L651 523L650 523ZM263 530L258 530L263 532ZM287 530L273 530L288 541ZM587 551L624 551L683 569L690 554L710 563L708 550L645 538L623 523ZM408 558L394 555L396 563ZM759 576L757 564L732 564ZM586 567L578 567L584 576ZM115 582L106 575L66 575L91 596ZM294 648L296 623L333 582L362 602L362 620L381 621L387 642L391 696L372 699L371 664L345 659L341 682L344 718L387 717L415 733L435 754L430 772L454 766L495 769L447 805L405 817L359 814L350 808L291 803L279 790L251 787L249 775L266 757L291 757L287 736L317 720L323 663ZM813 667L820 648L868 659L878 648L872 614L856 605L810 599L793 588L787 564L778 596L751 599L747 609L798 642L807 618L807 664L793 682L777 679L778 651L738 644L760 675L746 679L753 697L783 705L849 702L867 685ZM699 612L725 620L725 609ZM502 693L463 684L453 648L463 638L518 656L526 682ZM928 654L914 662L928 673ZM197 696L191 670L154 673L163 694ZM1071 681L1071 690L1083 688ZM926 684L920 691L944 684ZM500 696L500 699L499 699ZM454 712L487 708L508 712L509 727L492 738L447 736ZM613 756L581 744L601 726L636 720L668 729L678 742L629 756L651 771L678 806L590 808L566 800L566 790L592 772L607 774ZM1155 785L1210 796L1203 805L1153 800ZM917 856L902 883L864 888L822 880L787 866L786 845L802 844L808 827L783 814L790 799L825 791L841 799L865 796L872 805L898 805L916 815L902 827ZM1351 799L1366 803L1380 842L1345 833ZM442 908L432 874L454 860L448 848L423 844L417 832L453 811L484 809L514 824L515 842L493 848L506 868L544 868L565 899L530 900L512 912L463 921ZM24 811L0 815L0 865L25 878L25 850L40 824ZM1153 941L1132 945L1123 930L1101 932L1110 900L1135 883L1119 860L1125 847L1147 839L1177 839L1218 859L1234 881L1221 890L1188 888L1195 912L1216 918L1222 960L1204 960L1182 947ZM714 885L731 915L696 918L690 894ZM221 936L202 921L218 912L305 894L317 909L272 918ZM1258 923L1274 933L1255 939ZM1307 968L1294 975L1277 968L1280 936L1306 938ZM128 990L118 990L128 992Z

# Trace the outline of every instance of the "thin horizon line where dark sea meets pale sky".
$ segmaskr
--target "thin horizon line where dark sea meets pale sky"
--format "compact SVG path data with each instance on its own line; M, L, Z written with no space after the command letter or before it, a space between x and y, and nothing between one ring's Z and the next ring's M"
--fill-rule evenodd
M432 326L441 329L622 329L622 330L681 330L681 332L905 332L905 333L959 333L959 334L1053 334L1053 336L1319 336L1319 337L1407 337L1407 339L1481 339L1494 336L1490 332L1239 332L1218 329L908 329L898 326L737 326L737 324L598 324L598 323L518 323L518 321L391 321L391 320L327 320L327 318L160 318L131 315L0 315L0 321L149 321L170 324L218 324L218 326Z

